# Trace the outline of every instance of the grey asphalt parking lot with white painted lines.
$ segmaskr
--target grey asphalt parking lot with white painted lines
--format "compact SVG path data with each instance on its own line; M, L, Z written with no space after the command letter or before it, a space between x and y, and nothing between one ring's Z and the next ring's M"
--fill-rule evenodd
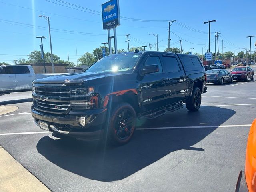
M34 124L32 102L11 104L19 109L0 116L0 146L52 191L234 191L256 80L207 86L198 112L138 120L120 147L55 138Z

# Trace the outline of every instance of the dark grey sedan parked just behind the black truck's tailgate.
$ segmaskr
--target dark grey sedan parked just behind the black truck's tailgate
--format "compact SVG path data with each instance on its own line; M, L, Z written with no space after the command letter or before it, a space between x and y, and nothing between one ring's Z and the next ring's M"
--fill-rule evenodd
M225 69L212 69L206 71L206 77L208 83L218 83L223 85L224 82L232 83L234 78L230 72Z

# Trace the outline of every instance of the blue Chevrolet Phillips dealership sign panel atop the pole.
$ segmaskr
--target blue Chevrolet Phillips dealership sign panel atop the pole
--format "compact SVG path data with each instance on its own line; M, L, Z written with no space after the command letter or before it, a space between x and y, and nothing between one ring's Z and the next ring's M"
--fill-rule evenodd
M119 0L111 0L101 5L103 29L120 25Z

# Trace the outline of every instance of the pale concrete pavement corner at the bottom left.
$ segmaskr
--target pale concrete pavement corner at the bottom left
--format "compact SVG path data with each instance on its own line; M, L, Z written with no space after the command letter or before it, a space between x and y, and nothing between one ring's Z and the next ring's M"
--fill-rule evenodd
M49 192L50 190L0 146L1 192Z

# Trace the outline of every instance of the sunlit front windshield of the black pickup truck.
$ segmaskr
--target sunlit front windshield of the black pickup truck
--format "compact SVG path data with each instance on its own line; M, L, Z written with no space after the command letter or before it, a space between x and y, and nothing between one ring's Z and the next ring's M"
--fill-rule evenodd
M94 63L85 72L115 72L115 71L128 71L131 70L140 54L116 54L108 57L104 57Z

